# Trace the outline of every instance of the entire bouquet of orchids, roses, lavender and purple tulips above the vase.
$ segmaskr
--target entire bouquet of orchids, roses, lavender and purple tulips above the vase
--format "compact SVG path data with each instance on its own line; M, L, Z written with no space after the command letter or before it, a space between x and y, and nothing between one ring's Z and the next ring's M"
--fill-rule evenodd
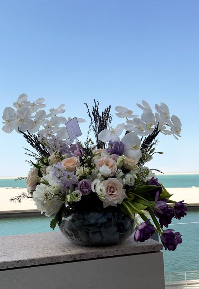
M157 170L145 164L155 153L162 153L155 152L159 133L180 137L180 119L169 116L165 103L156 104L154 114L150 105L142 101L142 105L137 104L143 110L140 118L132 110L116 106L116 115L126 119L126 123L113 128L110 106L100 114L99 103L94 100L91 112L85 104L91 124L82 143L75 132L72 139L69 135L67 123L72 118L58 116L65 112L64 105L46 114L43 102L39 98L31 103L22 94L13 103L16 110L6 107L3 112L3 131L11 133L15 129L36 151L26 149L26 154L35 160L30 161L27 192L11 200L32 198L41 213L56 215L50 223L52 229L63 206L68 210L86 204L96 209L115 206L137 223L136 242L144 242L156 233L164 248L174 251L182 242L182 235L163 227L167 228L172 218L184 217L187 206L184 201L170 200L171 194L155 176ZM96 143L89 138L91 130ZM142 219L140 224L136 214Z

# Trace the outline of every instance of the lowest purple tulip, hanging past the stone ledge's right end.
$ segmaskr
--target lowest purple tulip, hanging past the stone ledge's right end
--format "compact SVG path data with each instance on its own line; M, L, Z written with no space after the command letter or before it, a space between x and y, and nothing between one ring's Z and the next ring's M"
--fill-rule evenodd
M165 248L165 250L174 251L178 244L182 243L181 234L179 232L175 232L172 229L167 229L162 232L160 237L161 242Z

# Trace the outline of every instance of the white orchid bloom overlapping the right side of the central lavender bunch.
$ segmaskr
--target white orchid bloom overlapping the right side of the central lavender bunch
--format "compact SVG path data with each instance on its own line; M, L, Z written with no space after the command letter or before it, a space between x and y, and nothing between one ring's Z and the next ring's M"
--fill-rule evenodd
M99 140L101 140L102 142L109 142L109 141L120 141L119 136L121 135L123 129L124 129L125 123L121 123L119 125L117 125L116 128L110 127L109 129L104 129L102 131L100 131L100 133L98 134L98 138Z

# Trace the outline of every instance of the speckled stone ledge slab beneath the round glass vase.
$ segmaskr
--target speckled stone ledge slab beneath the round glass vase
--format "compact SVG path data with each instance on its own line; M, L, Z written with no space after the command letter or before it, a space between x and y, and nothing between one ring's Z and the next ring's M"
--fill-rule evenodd
M132 237L106 247L73 244L61 232L0 237L0 269L38 266L50 263L117 257L160 251L162 244L149 239L136 243Z

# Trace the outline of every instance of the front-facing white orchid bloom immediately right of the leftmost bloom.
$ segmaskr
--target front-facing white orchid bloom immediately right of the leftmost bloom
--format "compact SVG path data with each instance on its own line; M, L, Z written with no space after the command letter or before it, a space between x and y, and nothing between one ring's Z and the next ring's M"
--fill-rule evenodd
M19 133L18 128L21 131L27 131L31 123L31 111L30 108L21 107L16 111L16 123L15 130Z

